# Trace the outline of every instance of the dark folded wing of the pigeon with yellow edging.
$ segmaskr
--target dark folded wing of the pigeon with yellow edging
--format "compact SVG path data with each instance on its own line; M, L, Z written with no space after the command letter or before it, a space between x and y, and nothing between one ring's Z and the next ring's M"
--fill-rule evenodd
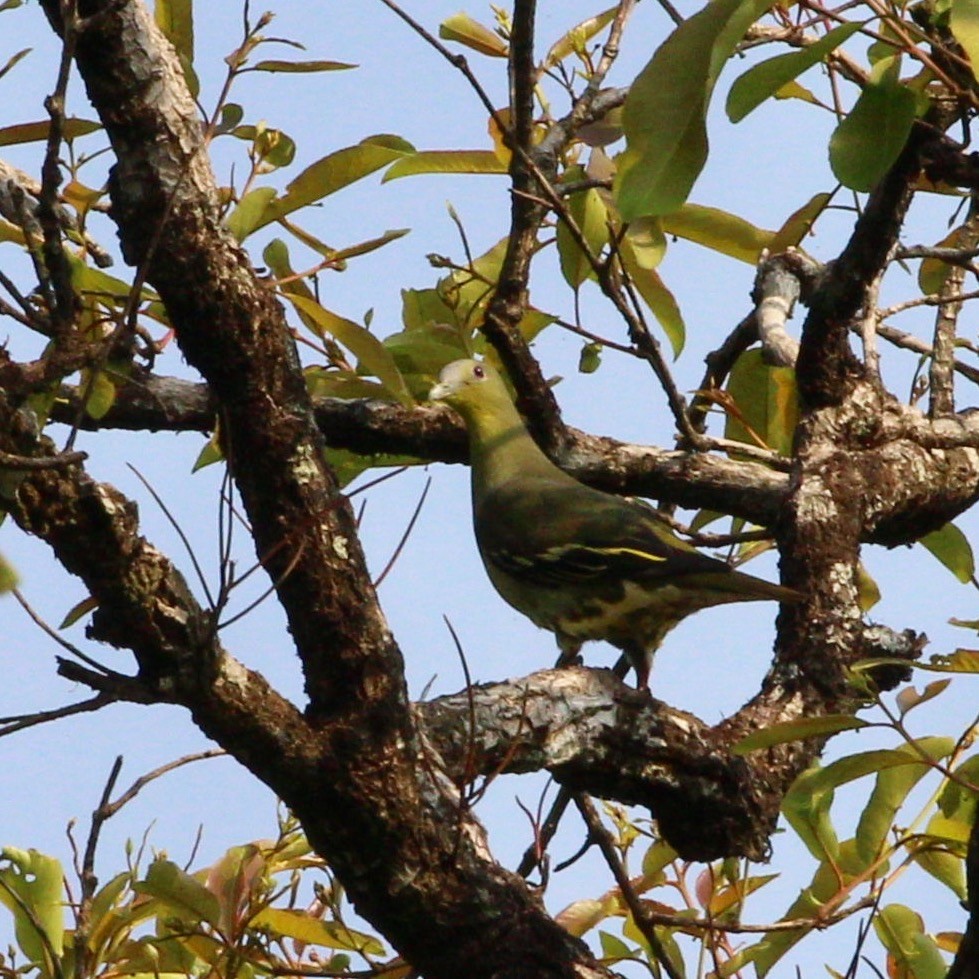
M477 507L476 536L500 570L540 584L730 570L676 538L644 504L573 481L521 479L494 489Z

